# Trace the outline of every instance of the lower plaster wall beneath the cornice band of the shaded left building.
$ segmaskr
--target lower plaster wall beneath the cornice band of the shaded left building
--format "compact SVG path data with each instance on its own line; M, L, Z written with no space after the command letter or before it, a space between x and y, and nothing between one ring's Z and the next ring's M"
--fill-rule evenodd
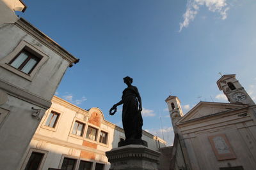
M44 115L45 110L9 95L7 103L0 107L9 111L0 127L0 169L13 170L19 166L26 146L40 122L31 117L35 113L31 107L40 109L40 116Z

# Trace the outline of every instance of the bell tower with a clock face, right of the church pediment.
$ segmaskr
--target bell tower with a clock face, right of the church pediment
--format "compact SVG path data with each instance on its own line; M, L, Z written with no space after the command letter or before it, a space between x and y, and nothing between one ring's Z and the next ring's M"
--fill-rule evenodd
M217 81L220 90L223 90L230 103L255 104L244 87L236 79L236 74L225 74Z

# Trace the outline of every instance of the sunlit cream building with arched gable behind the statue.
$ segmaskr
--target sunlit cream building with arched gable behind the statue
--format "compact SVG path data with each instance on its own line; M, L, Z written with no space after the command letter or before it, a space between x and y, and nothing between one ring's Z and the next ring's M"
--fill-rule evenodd
M146 131L142 138L152 150L166 144ZM116 148L122 139L124 130L105 120L99 108L83 110L54 96L20 169L108 170L110 164L105 152Z

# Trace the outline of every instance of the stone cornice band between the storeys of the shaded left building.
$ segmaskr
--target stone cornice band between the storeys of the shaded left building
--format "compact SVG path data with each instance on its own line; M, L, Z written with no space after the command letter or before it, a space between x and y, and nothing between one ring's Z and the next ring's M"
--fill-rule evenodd
M36 96L31 92L28 92L24 89L20 89L20 87L12 85L11 83L8 83L1 79L0 79L0 89L3 89L4 91L6 91L7 94L9 94L10 96L17 97L31 104L35 104L36 106L39 106L40 108L44 108L45 110L49 109L52 104L51 101L48 101L47 99L43 99L40 96Z

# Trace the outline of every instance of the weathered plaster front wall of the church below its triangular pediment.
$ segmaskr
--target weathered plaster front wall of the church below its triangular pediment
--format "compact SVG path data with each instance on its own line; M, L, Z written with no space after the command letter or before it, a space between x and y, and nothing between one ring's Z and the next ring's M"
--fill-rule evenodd
M238 116L242 113L248 115ZM228 166L256 167L256 125L252 110L233 111L214 119L205 118L180 127L188 149L192 169L219 169ZM218 160L209 141L209 136L225 134L234 150L235 159Z

